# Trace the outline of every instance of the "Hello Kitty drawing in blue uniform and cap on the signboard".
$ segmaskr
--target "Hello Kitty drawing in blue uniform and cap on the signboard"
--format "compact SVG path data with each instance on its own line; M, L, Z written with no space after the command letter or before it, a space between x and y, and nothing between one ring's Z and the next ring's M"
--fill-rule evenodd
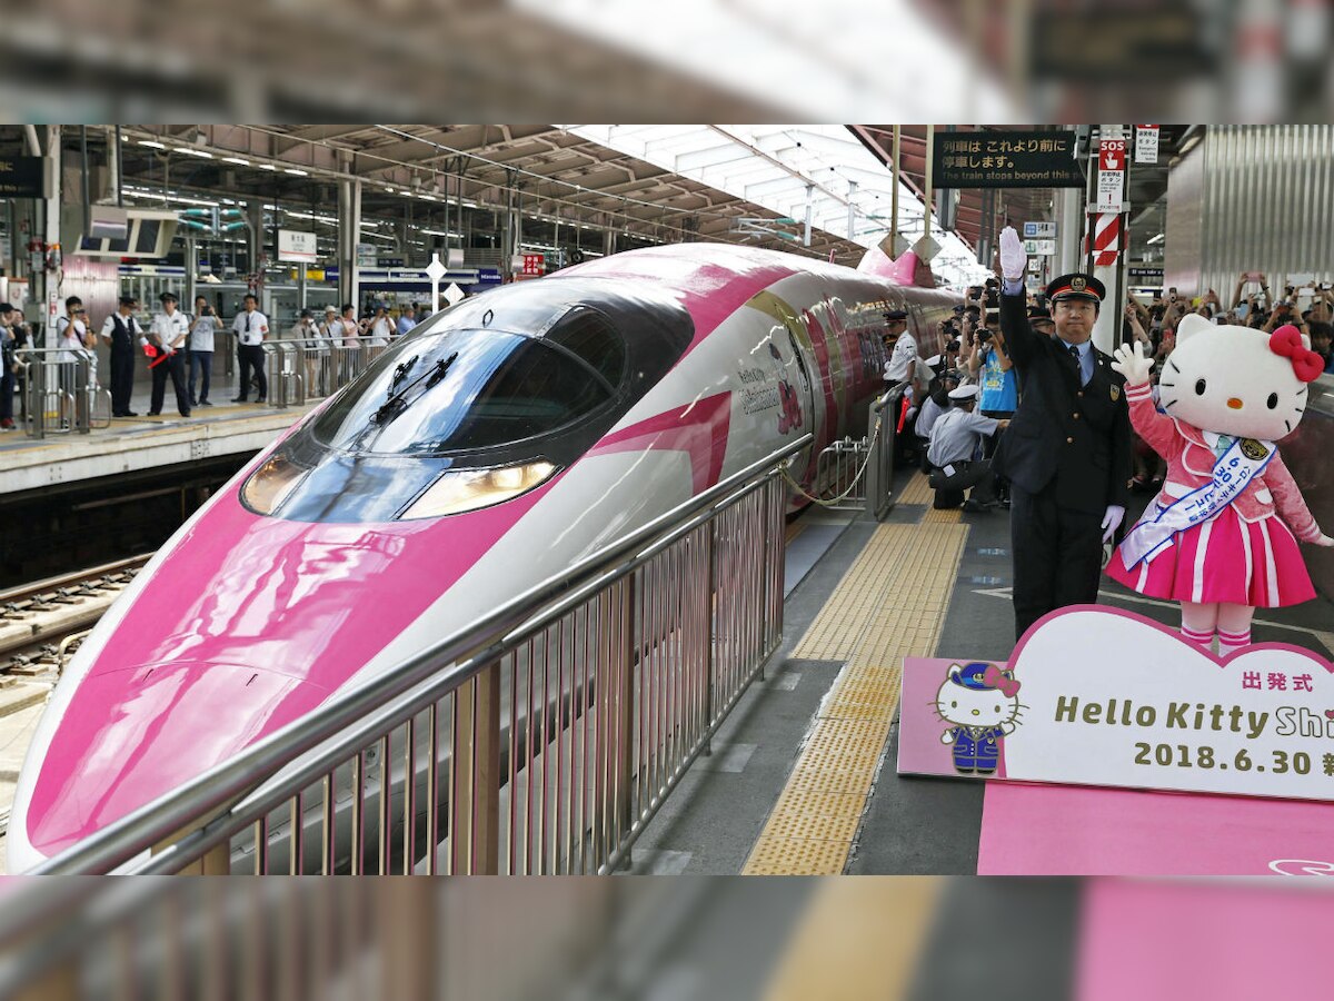
M950 727L940 743L954 745L954 770L960 775L992 775L1007 734L1019 725L1025 706L1014 671L974 661L950 665L935 695L935 711Z

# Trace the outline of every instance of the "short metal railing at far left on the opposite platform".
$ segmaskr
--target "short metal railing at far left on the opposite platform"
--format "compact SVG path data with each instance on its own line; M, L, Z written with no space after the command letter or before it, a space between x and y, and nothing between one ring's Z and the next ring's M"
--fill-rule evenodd
M29 438L111 426L111 394L97 384L91 351L23 347L15 359L23 386L20 420Z

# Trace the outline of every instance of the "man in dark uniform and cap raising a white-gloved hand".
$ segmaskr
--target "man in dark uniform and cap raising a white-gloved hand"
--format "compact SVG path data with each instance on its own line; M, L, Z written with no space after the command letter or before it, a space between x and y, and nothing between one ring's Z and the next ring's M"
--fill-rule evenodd
M1013 484L1014 631L1053 609L1098 601L1102 546L1126 517L1130 411L1125 376L1093 343L1106 290L1091 275L1047 286L1055 336L1029 323L1018 234L1000 234L1000 330L1023 386L994 467Z

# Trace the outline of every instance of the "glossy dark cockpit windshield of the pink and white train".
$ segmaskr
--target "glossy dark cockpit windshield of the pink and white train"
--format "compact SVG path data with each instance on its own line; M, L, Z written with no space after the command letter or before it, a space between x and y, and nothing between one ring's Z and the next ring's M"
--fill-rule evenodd
M571 319L546 338L476 328L408 338L311 431L355 455L443 455L559 431L607 404L624 367L604 320Z

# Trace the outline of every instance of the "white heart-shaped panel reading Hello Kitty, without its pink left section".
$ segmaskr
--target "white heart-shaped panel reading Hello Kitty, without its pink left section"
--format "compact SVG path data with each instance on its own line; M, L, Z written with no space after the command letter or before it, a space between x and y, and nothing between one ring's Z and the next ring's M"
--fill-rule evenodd
M1334 665L1266 643L1227 659L1175 630L1079 606L1010 667L1022 725L1007 778L1334 799Z

